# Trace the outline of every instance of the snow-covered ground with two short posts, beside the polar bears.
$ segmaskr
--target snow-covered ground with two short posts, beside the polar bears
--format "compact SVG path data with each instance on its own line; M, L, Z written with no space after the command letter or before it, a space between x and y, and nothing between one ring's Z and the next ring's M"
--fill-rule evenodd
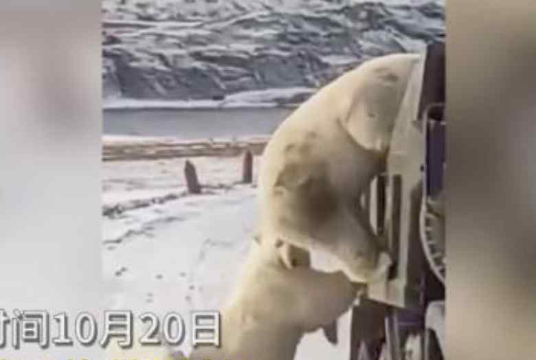
M190 310L221 308L238 280L256 230L256 186L238 183L241 157L196 157L190 161L205 189L188 195L185 161L102 164L103 272L114 284L117 308L186 317ZM255 157L254 178L259 163ZM349 330L347 313L337 346L317 331L304 337L296 359L347 359ZM181 346L186 353L189 335Z

